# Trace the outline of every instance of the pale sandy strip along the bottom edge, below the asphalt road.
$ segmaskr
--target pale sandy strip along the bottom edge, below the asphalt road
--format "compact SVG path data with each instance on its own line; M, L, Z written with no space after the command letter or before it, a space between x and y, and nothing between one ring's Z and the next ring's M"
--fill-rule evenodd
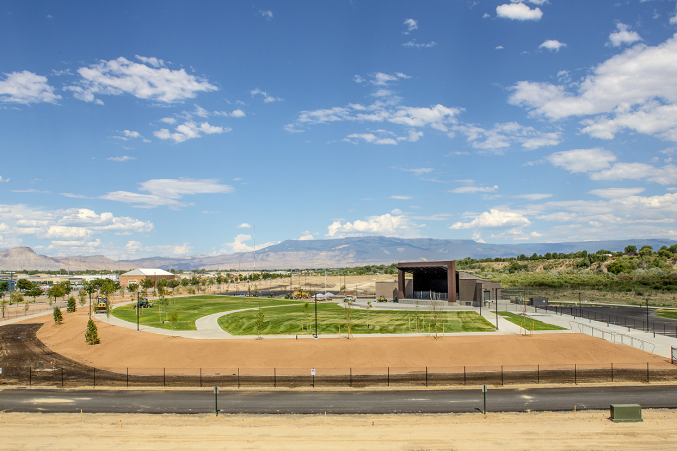
M675 450L677 412L434 415L0 414L0 450Z

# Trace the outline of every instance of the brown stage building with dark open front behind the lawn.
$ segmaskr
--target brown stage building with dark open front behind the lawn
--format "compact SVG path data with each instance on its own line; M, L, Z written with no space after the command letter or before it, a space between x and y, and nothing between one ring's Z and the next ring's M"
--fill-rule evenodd
M406 279L406 273L412 278ZM500 299L501 284L457 271L456 260L400 262L397 264L397 281L376 282L376 297L381 296L402 304L434 300L479 307L480 302Z

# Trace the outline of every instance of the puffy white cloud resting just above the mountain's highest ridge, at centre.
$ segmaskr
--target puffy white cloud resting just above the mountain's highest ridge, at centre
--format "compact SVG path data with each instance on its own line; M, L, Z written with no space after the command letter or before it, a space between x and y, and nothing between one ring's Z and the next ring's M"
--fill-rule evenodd
M393 216L389 213L382 216L370 216L366 220L355 220L341 224L333 222L327 227L326 238L364 237L383 235L387 237L418 238L418 229L423 227L403 215Z

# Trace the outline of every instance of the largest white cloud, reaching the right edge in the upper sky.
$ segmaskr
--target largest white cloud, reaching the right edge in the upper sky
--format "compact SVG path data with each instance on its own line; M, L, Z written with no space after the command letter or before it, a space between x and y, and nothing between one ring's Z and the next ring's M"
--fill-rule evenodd
M654 47L626 49L580 82L521 81L512 91L509 103L530 116L592 116L581 121L581 131L592 137L612 139L629 129L677 141L677 35Z

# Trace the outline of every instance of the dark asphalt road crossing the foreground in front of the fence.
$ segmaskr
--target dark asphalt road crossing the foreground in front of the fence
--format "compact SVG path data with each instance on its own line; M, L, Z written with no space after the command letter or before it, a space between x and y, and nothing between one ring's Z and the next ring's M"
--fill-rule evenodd
M556 387L487 391L487 412L607 409L610 404L677 408L677 385ZM481 412L481 389L402 391L221 390L222 413L392 414ZM1 412L211 413L213 389L0 389Z

